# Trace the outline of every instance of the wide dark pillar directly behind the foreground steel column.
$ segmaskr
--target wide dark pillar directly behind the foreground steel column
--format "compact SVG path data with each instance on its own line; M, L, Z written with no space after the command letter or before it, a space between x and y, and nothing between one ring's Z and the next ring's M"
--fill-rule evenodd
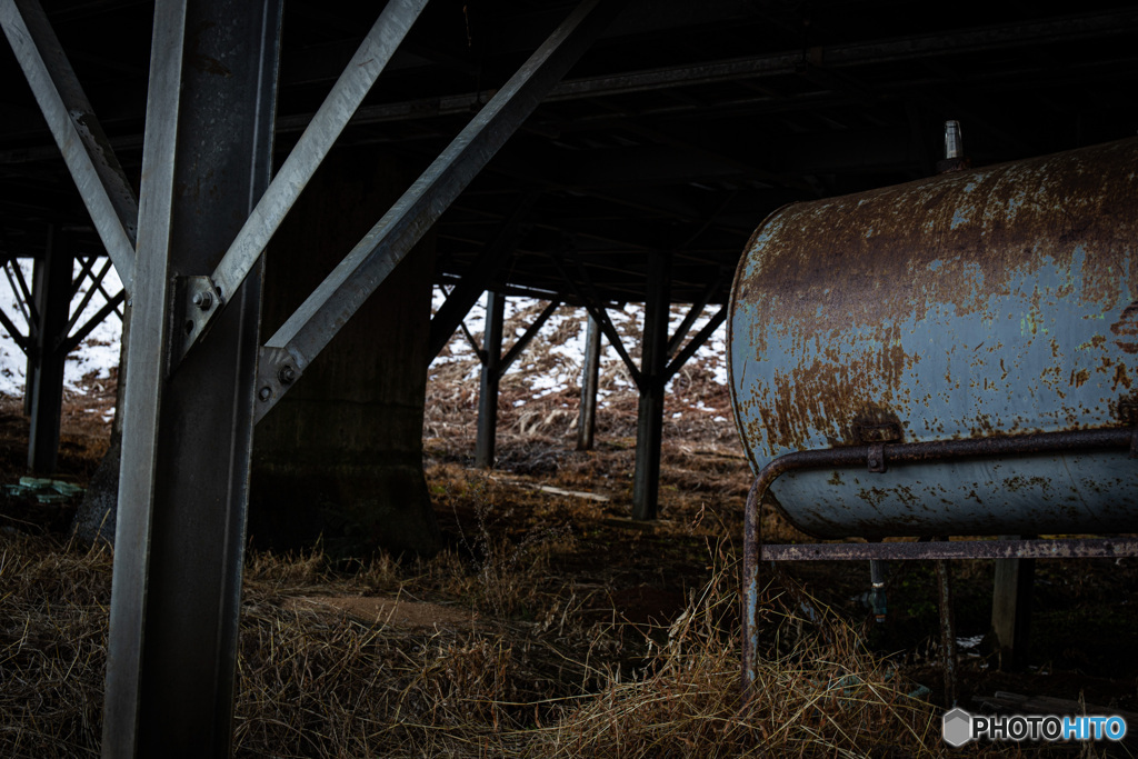
M381 148L324 158L270 244L263 339L391 205L409 173ZM253 545L438 551L422 465L434 266L428 234L257 424Z

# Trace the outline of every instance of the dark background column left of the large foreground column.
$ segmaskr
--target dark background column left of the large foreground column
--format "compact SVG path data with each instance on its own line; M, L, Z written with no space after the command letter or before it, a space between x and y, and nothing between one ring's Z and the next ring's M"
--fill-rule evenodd
M27 467L36 475L56 470L59 455L59 420L64 399L64 345L71 315L71 286L75 251L69 236L48 228L43 257L35 262L33 289L40 323L28 352L28 413L32 418L27 440Z

